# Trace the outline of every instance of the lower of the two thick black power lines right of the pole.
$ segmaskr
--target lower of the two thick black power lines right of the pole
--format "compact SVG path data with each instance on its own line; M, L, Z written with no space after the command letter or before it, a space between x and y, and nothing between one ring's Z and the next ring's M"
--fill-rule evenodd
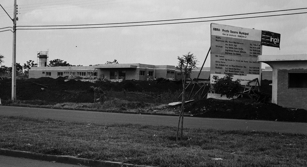
M307 12L301 12L301 13L288 13L288 14L278 14L278 15L268 15L268 16L254 16L254 17L228 18L228 19L217 19L217 20L206 20L206 21L193 21L193 22L173 22L173 23L158 23L158 24L141 24L141 25L125 25L125 26L107 26L107 27L18 28L18 30L60 30L60 29L88 29L88 28L114 28L114 27L154 26L154 25L166 25L166 24L182 24L182 23L196 23L196 22L212 22L212 21L236 20L236 19L246 19L246 18L285 16L285 15L305 14L305 13L307 13ZM19 26L19 27L21 27L21 26Z

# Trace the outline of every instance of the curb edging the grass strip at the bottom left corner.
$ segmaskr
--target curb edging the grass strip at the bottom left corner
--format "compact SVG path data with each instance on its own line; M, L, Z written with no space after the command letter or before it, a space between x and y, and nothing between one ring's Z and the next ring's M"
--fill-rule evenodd
M0 149L0 155L27 158L27 159L33 159L33 160L58 162L58 163L72 164L72 165L86 165L86 166L93 166L93 167L151 167L151 166L146 166L146 165L133 165L133 164L125 164L121 162L89 160L89 159L84 159L84 158L77 158L74 156L45 155L45 154L39 154L39 153L31 153L27 151L15 151L15 150L7 150L7 149Z

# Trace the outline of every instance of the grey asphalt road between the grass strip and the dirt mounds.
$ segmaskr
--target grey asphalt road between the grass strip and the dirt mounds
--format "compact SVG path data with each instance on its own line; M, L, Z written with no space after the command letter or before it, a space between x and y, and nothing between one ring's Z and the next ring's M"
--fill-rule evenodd
M141 124L177 126L177 116L119 114L92 111L72 111L57 109L41 109L28 107L0 106L0 115L25 116L39 119L56 119L64 121L93 122L103 124ZM231 120L214 118L184 117L184 127L248 130L307 134L307 123L261 121L261 120Z

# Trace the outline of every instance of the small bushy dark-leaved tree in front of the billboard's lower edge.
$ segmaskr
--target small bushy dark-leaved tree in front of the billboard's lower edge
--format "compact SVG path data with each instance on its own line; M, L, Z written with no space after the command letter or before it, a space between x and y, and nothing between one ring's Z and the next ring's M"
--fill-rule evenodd
M233 81L233 75L228 73L223 78L214 81L213 90L215 93L226 95L227 98L238 96L241 92L241 84L239 80Z

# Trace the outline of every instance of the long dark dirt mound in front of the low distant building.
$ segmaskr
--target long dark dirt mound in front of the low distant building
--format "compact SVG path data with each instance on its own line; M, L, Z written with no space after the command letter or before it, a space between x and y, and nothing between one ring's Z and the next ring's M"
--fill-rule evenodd
M150 96L132 95L125 92L154 92L177 91L181 89L180 84L166 82L156 84L156 81L98 81L96 83L84 82L80 80L64 81L64 77L53 79L50 77L30 78L26 80L16 80L16 96L18 100L40 100L54 103L78 102L90 103L94 101L95 91L93 87L102 91L115 91L117 98L131 99L131 101L152 101ZM11 99L10 79L0 80L0 96L2 100ZM131 96L131 97L126 97ZM99 97L99 96L98 96Z

